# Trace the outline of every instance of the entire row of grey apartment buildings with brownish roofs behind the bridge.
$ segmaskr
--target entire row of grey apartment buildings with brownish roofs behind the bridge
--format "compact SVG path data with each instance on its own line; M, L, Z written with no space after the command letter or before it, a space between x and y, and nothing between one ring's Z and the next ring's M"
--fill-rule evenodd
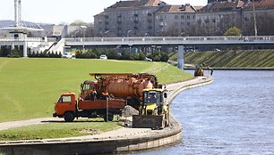
M232 27L268 36L274 35L273 22L274 0L215 0L203 7L120 1L94 16L94 36L222 36Z

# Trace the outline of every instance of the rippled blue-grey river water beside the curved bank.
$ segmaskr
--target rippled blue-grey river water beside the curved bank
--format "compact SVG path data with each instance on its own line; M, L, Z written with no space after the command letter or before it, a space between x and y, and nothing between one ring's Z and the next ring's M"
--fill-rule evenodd
M274 71L215 70L213 77L171 104L182 142L136 154L274 154Z

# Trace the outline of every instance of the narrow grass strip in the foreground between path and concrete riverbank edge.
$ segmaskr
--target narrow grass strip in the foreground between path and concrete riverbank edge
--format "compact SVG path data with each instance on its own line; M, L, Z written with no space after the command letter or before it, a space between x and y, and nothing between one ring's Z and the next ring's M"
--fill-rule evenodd
M105 122L104 119L83 119L81 121L51 122L0 131L0 141L37 140L64 138L81 135L96 135L119 128L117 122Z

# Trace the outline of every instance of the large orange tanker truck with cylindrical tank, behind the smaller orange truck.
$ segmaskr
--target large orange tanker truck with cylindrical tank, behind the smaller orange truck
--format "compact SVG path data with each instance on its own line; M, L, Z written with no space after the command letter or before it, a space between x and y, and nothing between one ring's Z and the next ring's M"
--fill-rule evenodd
M118 99L126 100L127 105L131 105L139 110L142 101L142 90L161 87L158 79L148 73L90 73L96 81L85 81L82 84L81 98L87 97L87 92L93 87L98 94L107 90Z

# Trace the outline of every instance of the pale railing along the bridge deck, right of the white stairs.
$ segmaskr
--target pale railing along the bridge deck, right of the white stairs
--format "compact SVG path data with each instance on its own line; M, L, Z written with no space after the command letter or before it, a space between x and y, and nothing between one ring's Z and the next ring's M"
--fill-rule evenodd
M145 45L145 44L270 44L274 36L242 37L75 37L64 38L68 45ZM84 41L83 41L84 40Z

